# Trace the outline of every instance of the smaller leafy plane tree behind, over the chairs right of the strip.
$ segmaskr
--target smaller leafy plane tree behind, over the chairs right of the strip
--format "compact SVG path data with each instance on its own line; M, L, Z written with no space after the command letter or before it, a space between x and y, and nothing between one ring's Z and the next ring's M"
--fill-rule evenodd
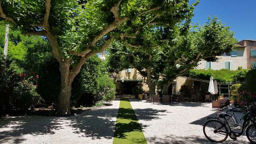
M236 39L229 27L214 17L204 26L187 28L186 24L176 23L172 27L144 27L136 38L123 39L122 43L115 42L110 48L112 70L136 68L147 78L150 94L155 94L156 85L168 94L178 76L198 66L200 60L218 60L217 56L232 50Z

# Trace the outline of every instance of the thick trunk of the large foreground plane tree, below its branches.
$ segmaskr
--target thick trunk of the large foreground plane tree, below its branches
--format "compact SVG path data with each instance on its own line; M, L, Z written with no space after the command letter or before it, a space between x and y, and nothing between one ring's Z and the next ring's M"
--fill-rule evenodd
M70 115L70 96L71 96L71 85L73 79L70 77L70 62L63 61L60 64L60 94L58 96L57 104L57 116L69 116Z

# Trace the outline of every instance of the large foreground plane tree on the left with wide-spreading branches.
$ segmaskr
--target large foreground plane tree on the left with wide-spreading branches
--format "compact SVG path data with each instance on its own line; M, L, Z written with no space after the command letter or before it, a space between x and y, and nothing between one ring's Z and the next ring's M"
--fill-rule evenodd
M144 26L185 20L189 0L1 0L0 21L43 36L61 73L58 116L70 115L71 86L84 62Z

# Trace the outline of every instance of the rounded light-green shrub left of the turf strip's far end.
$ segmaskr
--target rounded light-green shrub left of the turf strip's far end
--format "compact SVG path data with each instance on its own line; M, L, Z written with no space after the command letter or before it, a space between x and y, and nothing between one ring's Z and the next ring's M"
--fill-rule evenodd
M102 75L97 78L98 92L96 101L110 102L116 95L116 85L108 75Z

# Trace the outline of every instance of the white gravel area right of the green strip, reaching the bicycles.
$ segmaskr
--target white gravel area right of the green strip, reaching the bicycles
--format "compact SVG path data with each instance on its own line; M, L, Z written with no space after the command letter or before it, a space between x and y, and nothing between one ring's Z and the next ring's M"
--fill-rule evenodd
M202 124L214 116L211 103L158 105L130 99L148 144L212 144L203 134ZM239 118L240 119L240 116ZM249 144L246 136L224 144Z

